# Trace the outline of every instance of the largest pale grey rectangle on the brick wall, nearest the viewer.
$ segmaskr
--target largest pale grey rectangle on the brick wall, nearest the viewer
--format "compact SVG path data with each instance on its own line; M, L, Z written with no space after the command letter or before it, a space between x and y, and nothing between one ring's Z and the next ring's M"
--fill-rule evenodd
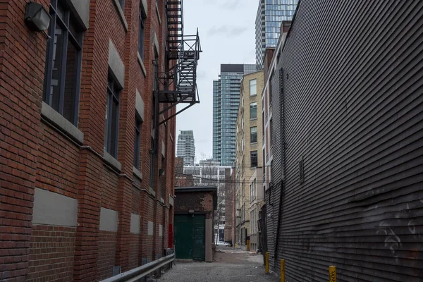
M35 188L32 223L76 226L77 219L78 200Z

